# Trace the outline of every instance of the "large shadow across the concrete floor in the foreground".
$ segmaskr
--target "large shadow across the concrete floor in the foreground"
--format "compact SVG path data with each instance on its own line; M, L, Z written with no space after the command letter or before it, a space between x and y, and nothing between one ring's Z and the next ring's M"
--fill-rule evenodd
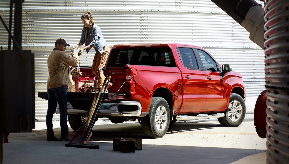
M94 132L93 140L100 140ZM102 133L101 136L113 138L114 132ZM122 134L122 133L118 133ZM132 134L130 137L141 137ZM89 142L100 146L99 149L65 147L62 141L46 142L46 135L12 137L4 144L3 163L22 164L63 164L63 163L194 163L194 164L229 164L265 150L229 149L194 146L142 145L142 150L135 153L121 153L113 150L112 142Z

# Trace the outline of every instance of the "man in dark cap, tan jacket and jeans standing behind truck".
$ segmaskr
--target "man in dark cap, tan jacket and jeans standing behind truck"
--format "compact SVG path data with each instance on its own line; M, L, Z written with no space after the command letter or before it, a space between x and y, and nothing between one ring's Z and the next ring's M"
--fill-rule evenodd
M64 39L57 39L55 48L48 56L48 110L46 114L46 127L47 127L47 141L70 141L67 126L67 89L68 84L73 84L71 76L71 66L78 64L79 48L75 48L73 55L65 52L66 46L70 46ZM60 139L54 136L52 117L56 111L57 102L60 112Z

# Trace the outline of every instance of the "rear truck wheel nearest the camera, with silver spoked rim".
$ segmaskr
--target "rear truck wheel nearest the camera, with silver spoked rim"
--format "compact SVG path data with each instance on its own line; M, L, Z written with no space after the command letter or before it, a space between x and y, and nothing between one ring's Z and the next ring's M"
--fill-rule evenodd
M166 100L161 97L153 97L148 115L141 118L141 127L147 137L161 138L169 128L169 120L170 111Z

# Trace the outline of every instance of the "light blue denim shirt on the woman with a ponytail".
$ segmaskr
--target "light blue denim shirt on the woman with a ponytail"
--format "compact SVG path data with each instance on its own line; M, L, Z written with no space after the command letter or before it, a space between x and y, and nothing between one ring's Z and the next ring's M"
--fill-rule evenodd
M90 38L92 40L91 42L89 42L87 38L87 30L89 30ZM85 46L90 45L90 47L86 49L86 53L88 53L92 47L94 47L95 50L97 50L99 53L102 53L103 47L106 45L106 41L102 36L101 29L96 24L94 24L93 27L90 27L90 29L86 28L86 31L82 29L81 38L79 42L82 44L85 43Z

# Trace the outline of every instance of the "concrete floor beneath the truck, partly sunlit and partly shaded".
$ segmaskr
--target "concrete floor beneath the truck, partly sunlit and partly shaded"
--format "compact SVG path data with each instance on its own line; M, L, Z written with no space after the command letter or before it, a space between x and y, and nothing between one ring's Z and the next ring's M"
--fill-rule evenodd
M177 121L162 138L144 136L138 122L112 124L96 121L89 144L99 149L65 147L63 141L46 141L46 124L36 121L31 133L10 133L4 143L3 163L194 163L194 164L264 164L266 139L255 131L253 114L247 114L239 127L223 127L216 119ZM54 132L60 137L59 121ZM70 128L70 137L74 131ZM121 153L113 150L113 139L141 137L142 150Z

